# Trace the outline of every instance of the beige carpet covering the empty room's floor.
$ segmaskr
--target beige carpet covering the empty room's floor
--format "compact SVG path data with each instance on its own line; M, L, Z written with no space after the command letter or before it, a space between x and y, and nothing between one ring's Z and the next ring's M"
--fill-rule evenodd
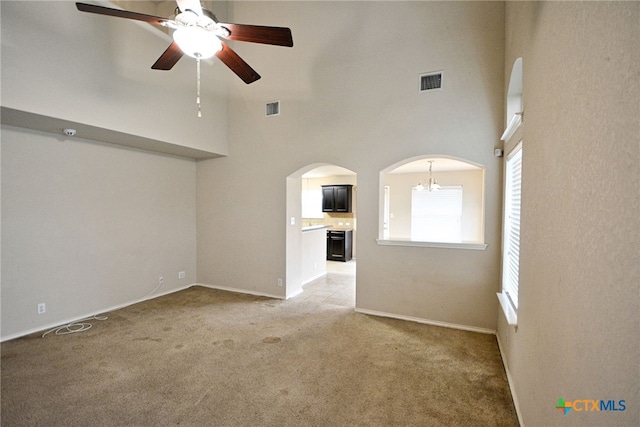
M2 344L9 426L517 426L492 335L193 287Z

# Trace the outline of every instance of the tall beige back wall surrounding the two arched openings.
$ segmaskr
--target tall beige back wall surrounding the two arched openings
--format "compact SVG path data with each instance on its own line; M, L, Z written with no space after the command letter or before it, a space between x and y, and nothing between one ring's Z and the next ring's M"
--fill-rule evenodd
M199 280L279 295L286 178L305 165L336 164L358 176L357 306L494 330L503 7L230 4L234 22L291 27L294 47L235 45L263 78L250 90L232 84L229 157L198 163ZM418 76L434 70L444 71L443 90L418 94ZM265 118L265 102L275 99L282 114ZM434 152L487 166L486 251L377 245L380 170Z

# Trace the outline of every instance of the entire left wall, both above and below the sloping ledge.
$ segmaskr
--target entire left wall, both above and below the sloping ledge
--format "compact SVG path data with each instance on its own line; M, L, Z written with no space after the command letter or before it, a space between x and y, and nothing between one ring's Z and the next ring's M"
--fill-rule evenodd
M2 339L138 301L160 275L155 295L195 283L195 162L87 138L223 155L230 71L203 64L197 119L194 62L150 69L168 35L72 1L0 8L2 121L20 122L2 128Z

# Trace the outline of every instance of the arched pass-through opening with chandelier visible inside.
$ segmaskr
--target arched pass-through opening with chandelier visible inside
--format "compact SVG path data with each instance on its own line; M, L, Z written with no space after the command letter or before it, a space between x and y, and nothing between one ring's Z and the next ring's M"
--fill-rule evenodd
M378 243L484 249L484 176L482 165L443 155L381 171Z

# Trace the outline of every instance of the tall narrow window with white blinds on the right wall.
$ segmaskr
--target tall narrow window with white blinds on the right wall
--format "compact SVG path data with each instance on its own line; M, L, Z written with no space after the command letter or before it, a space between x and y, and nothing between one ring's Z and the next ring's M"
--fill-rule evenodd
M520 201L522 188L522 145L507 157L505 185L504 253L502 290L518 308L520 275Z

